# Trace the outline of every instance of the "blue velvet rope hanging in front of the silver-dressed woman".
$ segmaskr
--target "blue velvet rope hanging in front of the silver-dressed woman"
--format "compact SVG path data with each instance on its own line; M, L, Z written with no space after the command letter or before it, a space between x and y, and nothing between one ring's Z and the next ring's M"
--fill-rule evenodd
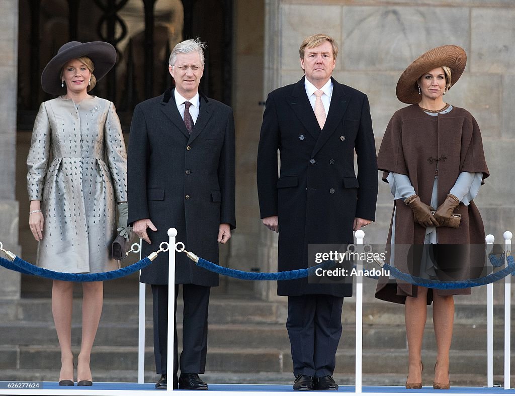
M16 256L14 261L9 261L3 257L0 257L0 265L7 269L12 269L13 271L17 271L22 274L37 275L42 278L65 280L69 282L98 282L122 278L136 271L139 271L142 268L145 268L151 263L152 262L150 259L145 257L143 260L140 260L137 263L124 268L116 269L115 271L99 272L96 274L67 274L64 272L50 271L46 268L37 267L36 265L32 265L25 260L22 260L18 256Z

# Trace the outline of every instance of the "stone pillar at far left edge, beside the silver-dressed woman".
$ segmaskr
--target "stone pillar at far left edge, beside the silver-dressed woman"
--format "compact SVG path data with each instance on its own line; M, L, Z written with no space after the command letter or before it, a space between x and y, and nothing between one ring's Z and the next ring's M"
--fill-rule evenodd
M16 98L18 97L18 0L0 0L0 241L20 254L15 200ZM5 257L3 253L2 257ZM0 298L20 298L19 273L0 268Z

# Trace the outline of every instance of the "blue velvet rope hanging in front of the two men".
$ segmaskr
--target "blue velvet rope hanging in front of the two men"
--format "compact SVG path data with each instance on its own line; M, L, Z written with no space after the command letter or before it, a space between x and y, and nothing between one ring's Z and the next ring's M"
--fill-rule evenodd
M295 269L293 271L283 272L245 272L239 271L238 269L232 269L227 267L221 267L211 261L204 259L198 259L197 265L199 267L208 269L216 274L229 276L231 278L243 279L243 280L291 280L306 278L311 275L315 275L315 271L318 268L327 269L335 265L334 261L324 261L323 263L314 267Z

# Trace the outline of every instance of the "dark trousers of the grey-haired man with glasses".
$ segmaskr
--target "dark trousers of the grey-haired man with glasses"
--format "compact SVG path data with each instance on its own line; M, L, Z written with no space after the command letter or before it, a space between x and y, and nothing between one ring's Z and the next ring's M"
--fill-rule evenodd
M168 285L152 284L154 313L154 356L156 372L166 374L168 347ZM177 296L179 286L175 285L174 318L174 374L177 375L177 362L181 372L201 374L205 370L205 356L208 349L208 308L209 286L195 284L182 285L184 311L182 319L182 352L177 357Z

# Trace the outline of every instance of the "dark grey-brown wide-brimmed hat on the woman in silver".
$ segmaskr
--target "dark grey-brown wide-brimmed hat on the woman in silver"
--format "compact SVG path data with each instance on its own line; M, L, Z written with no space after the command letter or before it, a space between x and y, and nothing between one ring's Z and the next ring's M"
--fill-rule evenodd
M93 74L97 81L104 77L116 63L116 49L109 43L104 41L90 41L89 43L70 41L59 48L57 55L50 59L50 62L45 66L41 74L43 91L53 95L64 94L66 87L61 87L61 69L69 60L84 56L93 61L95 66Z

